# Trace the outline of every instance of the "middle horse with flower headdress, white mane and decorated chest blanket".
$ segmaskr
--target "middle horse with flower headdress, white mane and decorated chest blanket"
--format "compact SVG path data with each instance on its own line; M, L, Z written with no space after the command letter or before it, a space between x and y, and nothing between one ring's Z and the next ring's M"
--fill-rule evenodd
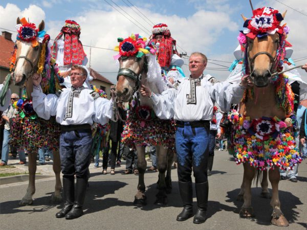
M155 204L165 205L167 204L166 193L170 193L171 191L171 165L173 163L173 151L168 149L170 145L167 142L168 140L174 142L174 126L171 125L169 120L152 118L155 117L155 113L152 110L152 103L149 98L142 97L137 91L140 85L146 85L154 93L161 93L162 89L160 86L164 83L162 82L161 68L156 61L155 52L148 54L149 56L144 55L144 53L149 53L148 50L152 51L152 48L146 47L148 49L146 51L144 49L146 46L145 39L140 38L138 35L131 37L133 39L126 38L125 40L120 40L119 52L121 56L116 57L116 59L119 57L120 66L117 74L116 95L118 102L130 102L131 104L125 124L124 135L126 137L131 136L131 143L135 144L138 154L139 182L134 205L142 206L146 204L144 173L147 163L145 160L145 143L156 146L159 170L159 192L156 195L157 199ZM139 52L134 52L138 50L138 47L140 48ZM144 53L142 54L141 52ZM148 77L149 72L151 74L153 72L150 70L150 67L157 68L156 80ZM134 100L132 100L133 97ZM139 131L136 131L136 129L139 129ZM150 130L153 131L151 132ZM131 132L134 134L131 134ZM144 137L145 140L136 140L138 139L137 132L140 132L144 136L146 133L149 133L149 135ZM154 137L155 135L156 137ZM153 141L155 138L157 139L157 143L153 143L155 142ZM123 141L125 141L125 137ZM165 172L167 172L166 175Z

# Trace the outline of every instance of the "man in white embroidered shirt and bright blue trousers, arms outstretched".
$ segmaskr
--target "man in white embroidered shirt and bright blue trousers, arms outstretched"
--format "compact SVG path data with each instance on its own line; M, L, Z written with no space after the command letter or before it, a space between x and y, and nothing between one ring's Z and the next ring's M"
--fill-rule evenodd
M244 88L251 84L243 77L241 84L217 82L210 75L203 75L207 57L202 53L192 53L189 58L190 77L183 78L178 89L167 89L156 95L142 85L140 92L150 97L156 115L160 119L177 120L176 150L178 159L179 190L184 203L183 211L177 216L184 221L193 216L192 207L192 169L195 176L195 190L198 211L193 223L206 221L208 204L208 138L210 120L213 116L213 105L216 102L224 111L231 103L238 103Z

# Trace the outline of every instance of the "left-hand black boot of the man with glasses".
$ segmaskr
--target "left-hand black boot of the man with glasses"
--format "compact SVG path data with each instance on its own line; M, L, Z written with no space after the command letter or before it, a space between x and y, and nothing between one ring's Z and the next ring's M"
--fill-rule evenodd
M63 218L72 208L75 201L75 178L74 176L63 176L63 193L64 193L64 207L55 216Z

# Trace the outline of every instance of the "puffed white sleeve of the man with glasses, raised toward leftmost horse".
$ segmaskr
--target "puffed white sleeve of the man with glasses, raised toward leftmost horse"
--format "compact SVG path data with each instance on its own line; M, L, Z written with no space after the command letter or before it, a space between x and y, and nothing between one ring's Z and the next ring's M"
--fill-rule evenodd
M32 104L38 117L49 120L51 116L55 116L58 100L55 94L43 94L40 86L33 86Z

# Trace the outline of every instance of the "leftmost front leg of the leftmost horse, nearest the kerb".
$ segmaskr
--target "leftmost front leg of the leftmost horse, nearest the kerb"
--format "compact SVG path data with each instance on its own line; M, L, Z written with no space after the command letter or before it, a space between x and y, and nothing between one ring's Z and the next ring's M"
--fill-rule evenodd
M27 193L23 199L20 200L19 205L31 205L33 203L32 196L35 193L36 153L29 152L28 158L29 185L27 188Z

